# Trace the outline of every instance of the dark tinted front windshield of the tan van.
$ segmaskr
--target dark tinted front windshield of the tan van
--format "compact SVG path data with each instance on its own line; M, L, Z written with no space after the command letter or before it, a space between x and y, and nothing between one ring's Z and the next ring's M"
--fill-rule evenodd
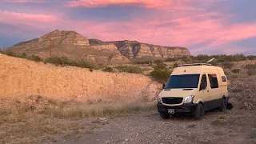
M200 74L171 75L165 89L198 88Z

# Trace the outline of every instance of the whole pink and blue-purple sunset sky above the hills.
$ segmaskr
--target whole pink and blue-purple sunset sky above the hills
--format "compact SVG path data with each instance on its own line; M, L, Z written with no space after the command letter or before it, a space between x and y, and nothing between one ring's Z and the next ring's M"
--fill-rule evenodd
M1 47L56 29L192 54L256 54L256 0L0 0Z

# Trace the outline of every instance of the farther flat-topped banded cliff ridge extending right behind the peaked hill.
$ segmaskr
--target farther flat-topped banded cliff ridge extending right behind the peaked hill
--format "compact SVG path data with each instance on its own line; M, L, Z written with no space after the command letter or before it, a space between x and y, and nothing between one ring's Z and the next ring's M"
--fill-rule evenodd
M114 43L120 53L126 58L173 58L183 55L190 55L190 50L184 47L156 46L137 41L118 41Z

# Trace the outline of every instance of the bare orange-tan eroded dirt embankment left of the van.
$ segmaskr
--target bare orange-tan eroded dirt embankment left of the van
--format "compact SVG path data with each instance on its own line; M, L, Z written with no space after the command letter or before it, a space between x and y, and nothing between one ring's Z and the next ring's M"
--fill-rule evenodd
M40 95L78 101L152 100L158 82L142 74L113 74L53 66L0 55L0 96Z

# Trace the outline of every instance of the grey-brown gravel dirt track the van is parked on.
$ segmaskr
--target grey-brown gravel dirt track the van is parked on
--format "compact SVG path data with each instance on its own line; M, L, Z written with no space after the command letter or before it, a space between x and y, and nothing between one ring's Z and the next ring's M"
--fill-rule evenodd
M82 120L78 134L58 136L53 143L256 143L255 111L216 110L195 121L181 116L162 120L157 111L119 118ZM51 142L45 142L51 143Z

